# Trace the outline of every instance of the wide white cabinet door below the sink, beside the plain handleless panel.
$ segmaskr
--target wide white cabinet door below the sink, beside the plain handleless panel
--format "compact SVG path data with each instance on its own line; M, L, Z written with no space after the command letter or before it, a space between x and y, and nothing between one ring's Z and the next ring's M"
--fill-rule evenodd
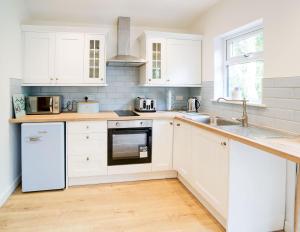
M193 127L193 187L223 217L227 218L228 141L226 138Z

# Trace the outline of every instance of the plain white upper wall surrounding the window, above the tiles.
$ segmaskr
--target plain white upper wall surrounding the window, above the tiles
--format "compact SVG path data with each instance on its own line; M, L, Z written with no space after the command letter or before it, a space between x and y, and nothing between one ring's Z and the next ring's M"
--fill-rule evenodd
M263 19L265 77L300 75L299 0L223 0L192 25L204 35L203 80L213 80L213 39L252 21Z

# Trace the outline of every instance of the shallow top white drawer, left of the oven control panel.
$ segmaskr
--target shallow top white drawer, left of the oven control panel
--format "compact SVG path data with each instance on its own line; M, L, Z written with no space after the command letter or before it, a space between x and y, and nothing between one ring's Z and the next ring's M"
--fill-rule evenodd
M68 122L68 133L107 133L107 121Z

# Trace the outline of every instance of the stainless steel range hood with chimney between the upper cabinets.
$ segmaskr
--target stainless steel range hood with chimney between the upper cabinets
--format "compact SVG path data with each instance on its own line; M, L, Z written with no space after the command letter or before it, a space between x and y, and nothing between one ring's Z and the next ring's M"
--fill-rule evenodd
M139 67L146 63L142 58L130 54L130 18L118 18L118 55L107 60L108 66Z

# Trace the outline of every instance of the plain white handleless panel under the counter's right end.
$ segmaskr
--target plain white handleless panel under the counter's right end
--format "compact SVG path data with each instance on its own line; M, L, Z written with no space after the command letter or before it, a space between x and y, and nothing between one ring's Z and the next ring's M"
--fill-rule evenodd
M286 160L230 141L228 231L283 231Z

